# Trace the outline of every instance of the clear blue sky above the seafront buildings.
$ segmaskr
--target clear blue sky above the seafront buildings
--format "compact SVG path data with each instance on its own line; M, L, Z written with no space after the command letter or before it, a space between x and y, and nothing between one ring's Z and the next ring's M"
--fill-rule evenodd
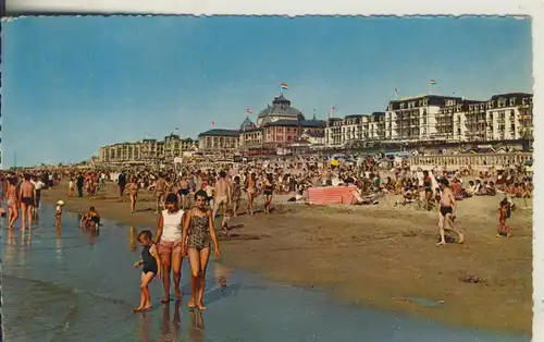
M25 17L2 28L3 166L234 129L287 83L311 117L429 91L532 93L531 25L505 17Z

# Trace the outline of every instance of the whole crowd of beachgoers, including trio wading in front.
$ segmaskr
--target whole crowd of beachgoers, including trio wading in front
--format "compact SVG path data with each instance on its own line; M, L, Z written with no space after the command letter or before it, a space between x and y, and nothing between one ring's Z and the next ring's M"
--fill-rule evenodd
M170 169L148 168L49 168L2 172L2 198L9 212L9 229L21 217L22 229L30 228L40 205L41 191L67 182L67 197L100 199L107 184L115 184L118 195L128 198L132 213L139 208L140 194L151 196L159 223L154 234L145 230L137 241L143 246L141 296L136 312L151 306L149 282L159 277L164 286L162 303L170 301L171 278L174 294L181 297L180 279L182 260L188 257L191 274L189 307L206 309L203 285L210 251L221 255L215 236L215 217L220 213L220 228L228 239L228 221L245 212L255 216L256 199L262 197L262 212L273 212L274 198L282 201L309 203L308 190L317 186L351 186L360 198L373 198L362 204L378 204L378 197L400 197L396 205L416 203L418 208L436 209L438 215L438 245L446 243L445 232L457 234L463 243L462 231L454 224L457 203L473 196L500 196L497 236L509 236L506 220L516 209L512 197L532 196L532 175L519 167L475 172L470 167L462 170L410 168L406 162L380 162L372 156L358 162L332 163L321 158L298 157L290 160L261 159L247 163L219 163L202 168L198 163ZM277 199L276 199L277 200ZM60 200L61 203L62 200ZM62 204L58 204L57 220L60 225ZM245 208L244 208L245 207ZM95 206L82 217L84 228L98 229L100 215Z

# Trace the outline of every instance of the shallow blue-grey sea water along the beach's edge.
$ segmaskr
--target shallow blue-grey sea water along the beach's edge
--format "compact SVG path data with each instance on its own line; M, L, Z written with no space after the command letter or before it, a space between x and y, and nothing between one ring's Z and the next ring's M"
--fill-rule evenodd
M139 301L139 271L132 265L131 229L103 220L100 234L78 228L63 213L60 235L54 208L40 209L32 232L2 221L3 322L5 341L530 341L478 329L364 309L332 301L325 292L271 283L228 272L210 259L208 310L187 309L188 265L183 265L185 298L160 304L153 281L153 309L133 314ZM138 228L138 231L141 228ZM437 309L447 309L441 308Z

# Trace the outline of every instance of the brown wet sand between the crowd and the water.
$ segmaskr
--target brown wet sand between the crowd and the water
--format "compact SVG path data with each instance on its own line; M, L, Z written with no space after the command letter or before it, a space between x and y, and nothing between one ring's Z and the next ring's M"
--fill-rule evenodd
M118 198L113 184L94 200L69 198L66 193L63 183L42 197L49 203L63 199L69 211L86 211L92 205L103 218L156 227L150 193L140 193L139 211L134 215L127 199ZM497 239L499 197L463 200L456 222L466 230L467 243L437 247L436 213L393 209L390 201L395 199L369 207L276 201L272 215L232 219L234 239L221 243L223 262L271 280L327 289L335 297L364 307L531 332L532 210L514 212L512 237ZM524 207L523 200L516 201Z

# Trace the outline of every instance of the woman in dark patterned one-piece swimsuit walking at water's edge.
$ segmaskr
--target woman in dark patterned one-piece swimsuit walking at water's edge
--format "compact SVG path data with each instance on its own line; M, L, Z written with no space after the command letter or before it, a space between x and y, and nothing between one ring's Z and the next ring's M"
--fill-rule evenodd
M187 218L183 224L182 241L185 241L183 255L188 255L190 265L190 301L189 308L198 307L205 310L202 304L206 268L210 258L210 241L215 247L215 256L221 257L218 239L215 237L215 227L211 210L206 208L208 195L199 190L195 194L195 207L186 215Z

